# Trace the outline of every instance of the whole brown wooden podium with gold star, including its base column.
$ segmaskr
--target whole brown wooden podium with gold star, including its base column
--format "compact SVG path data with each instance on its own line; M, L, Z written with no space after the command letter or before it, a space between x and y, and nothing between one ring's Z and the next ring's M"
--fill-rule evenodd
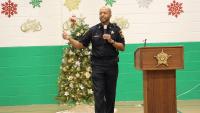
M141 47L135 67L143 70L144 113L177 113L176 69L184 68L183 47Z

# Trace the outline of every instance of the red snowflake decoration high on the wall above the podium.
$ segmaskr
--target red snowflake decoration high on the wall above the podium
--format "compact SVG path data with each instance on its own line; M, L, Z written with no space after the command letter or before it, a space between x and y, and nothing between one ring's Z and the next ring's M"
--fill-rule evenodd
M183 3L179 3L174 0L172 3L170 3L170 5L167 5L169 11L168 15L172 15L177 18L181 13L184 12L182 5Z

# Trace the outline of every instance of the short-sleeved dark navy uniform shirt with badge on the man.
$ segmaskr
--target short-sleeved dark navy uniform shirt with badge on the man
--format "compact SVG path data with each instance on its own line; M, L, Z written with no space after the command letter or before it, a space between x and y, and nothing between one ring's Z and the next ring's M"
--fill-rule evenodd
M114 41L125 44L121 29L116 24L109 23L106 32ZM103 39L103 34L103 25L99 23L91 27L80 40L85 47L92 43L91 61L93 65L103 65L105 62L109 65L118 62L118 50Z

